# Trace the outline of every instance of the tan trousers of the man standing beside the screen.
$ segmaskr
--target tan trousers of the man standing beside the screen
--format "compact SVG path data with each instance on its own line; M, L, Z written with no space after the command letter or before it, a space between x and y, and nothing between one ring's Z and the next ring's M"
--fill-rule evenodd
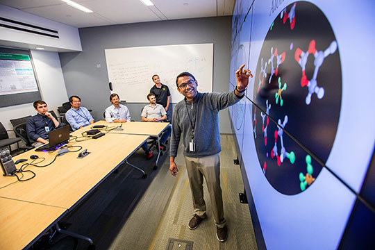
M194 212L200 217L204 217L206 213L206 202L203 199L204 176L210 194L215 224L218 227L224 227L226 220L224 219L222 188L220 188L219 153L200 158L185 156L185 163L192 190Z

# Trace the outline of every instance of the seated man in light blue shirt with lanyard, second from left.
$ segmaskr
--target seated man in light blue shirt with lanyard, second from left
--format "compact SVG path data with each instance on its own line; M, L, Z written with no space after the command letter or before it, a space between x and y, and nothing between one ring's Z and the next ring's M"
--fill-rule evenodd
M69 102L72 108L67 110L65 118L74 131L94 123L94 118L92 118L89 110L85 107L81 107L81 98L72 96L69 97Z

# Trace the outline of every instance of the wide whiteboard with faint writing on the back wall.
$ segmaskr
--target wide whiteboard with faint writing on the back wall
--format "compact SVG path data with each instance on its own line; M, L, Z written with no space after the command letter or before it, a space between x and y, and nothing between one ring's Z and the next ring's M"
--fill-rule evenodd
M147 94L157 74L168 86L172 102L183 99L176 88L176 76L190 72L199 92L213 91L213 44L180 44L105 49L108 80L122 101L148 102Z

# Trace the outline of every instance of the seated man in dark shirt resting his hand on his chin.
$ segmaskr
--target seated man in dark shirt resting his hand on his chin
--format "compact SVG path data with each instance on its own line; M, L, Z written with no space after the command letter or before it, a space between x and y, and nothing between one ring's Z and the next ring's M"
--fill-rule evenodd
M38 114L28 118L26 132L28 140L34 147L48 143L48 133L60 126L59 122L48 112L47 103L34 101L33 106Z

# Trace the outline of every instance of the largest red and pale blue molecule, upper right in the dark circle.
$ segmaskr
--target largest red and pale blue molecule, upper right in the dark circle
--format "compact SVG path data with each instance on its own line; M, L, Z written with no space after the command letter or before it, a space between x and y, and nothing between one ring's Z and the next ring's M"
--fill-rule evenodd
M302 77L301 77L301 86L308 87L308 95L306 97L306 104L309 105L311 103L311 96L315 93L317 94L318 99L322 99L324 97L324 88L319 87L317 85L317 74L319 72L319 67L322 66L324 62L324 58L331 55L332 53L335 53L336 49L338 48L338 43L336 41L331 42L329 47L325 51L317 51L315 48L315 40L311 40L308 51L302 51L300 48L296 49L296 52L294 53L294 58L297 60L299 65L302 68ZM312 53L314 55L314 74L313 78L308 81L305 69L306 69L306 63L308 61L308 55Z

